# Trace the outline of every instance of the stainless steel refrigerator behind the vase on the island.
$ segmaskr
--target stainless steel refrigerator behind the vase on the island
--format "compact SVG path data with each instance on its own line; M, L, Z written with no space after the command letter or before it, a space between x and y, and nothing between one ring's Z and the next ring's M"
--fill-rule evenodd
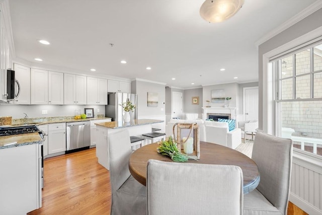
M130 112L131 119L137 119L137 95L131 93L108 93L107 105L105 105L105 116L111 117L112 121L123 122L123 108L120 104L130 100L136 106L133 112Z

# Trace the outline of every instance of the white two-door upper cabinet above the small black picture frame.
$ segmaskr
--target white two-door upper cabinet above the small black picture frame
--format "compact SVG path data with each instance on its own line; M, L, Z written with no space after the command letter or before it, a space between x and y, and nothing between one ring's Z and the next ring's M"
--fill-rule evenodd
M87 77L87 104L107 105L107 80Z

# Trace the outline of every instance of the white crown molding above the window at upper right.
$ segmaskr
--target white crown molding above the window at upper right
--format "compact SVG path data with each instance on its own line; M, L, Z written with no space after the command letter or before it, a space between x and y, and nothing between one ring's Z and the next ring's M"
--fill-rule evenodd
M317 10L319 10L320 8L322 8L322 1L317 0L312 5L308 6L303 11L301 11L300 13L296 14L295 16L293 16L291 19L289 19L286 22L284 22L283 24L281 24L279 27L277 27L274 30L272 30L271 32L267 33L264 37L262 37L261 39L256 41L255 45L258 47L262 43L266 42L267 40L271 39L272 37L274 37L274 36L278 35L279 33L283 32L284 30L286 30L287 28L291 27L292 25L298 23L299 21L301 21L305 17L311 15L312 13L314 13Z

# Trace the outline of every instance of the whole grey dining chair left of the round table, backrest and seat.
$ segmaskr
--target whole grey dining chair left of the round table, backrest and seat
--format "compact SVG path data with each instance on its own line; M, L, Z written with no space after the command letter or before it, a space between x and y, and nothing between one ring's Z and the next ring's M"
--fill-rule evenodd
M132 154L127 129L108 134L111 214L146 214L146 188L130 174L128 164Z

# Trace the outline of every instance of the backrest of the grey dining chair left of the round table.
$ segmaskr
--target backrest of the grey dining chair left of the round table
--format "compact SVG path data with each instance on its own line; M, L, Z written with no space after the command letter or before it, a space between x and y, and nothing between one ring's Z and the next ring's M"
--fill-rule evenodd
M128 166L132 149L127 129L108 134L108 153L111 189L114 193L131 175Z

